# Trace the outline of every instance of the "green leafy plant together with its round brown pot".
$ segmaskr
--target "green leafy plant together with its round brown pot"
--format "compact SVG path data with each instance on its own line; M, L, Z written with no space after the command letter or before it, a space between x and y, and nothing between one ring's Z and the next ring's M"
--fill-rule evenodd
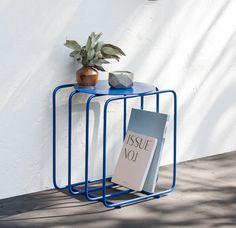
M64 44L73 50L70 56L82 64L82 68L76 72L76 81L81 87L94 87L98 80L98 70L105 71L102 65L110 63L107 59L119 61L120 56L125 55L119 47L99 41L101 35L92 32L84 46L75 40L66 40Z

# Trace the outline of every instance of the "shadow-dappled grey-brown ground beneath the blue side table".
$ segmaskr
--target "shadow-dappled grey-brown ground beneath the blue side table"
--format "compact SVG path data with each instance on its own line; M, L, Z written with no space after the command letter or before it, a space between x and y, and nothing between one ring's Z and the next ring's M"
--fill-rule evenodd
M177 168L173 193L121 209L55 190L0 200L0 227L236 227L236 152ZM171 167L160 175L168 185Z

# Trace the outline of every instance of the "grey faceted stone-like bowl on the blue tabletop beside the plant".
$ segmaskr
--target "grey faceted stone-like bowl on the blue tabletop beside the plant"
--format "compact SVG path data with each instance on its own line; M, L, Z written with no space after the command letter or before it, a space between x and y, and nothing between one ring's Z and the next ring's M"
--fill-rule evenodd
M129 71L113 71L109 73L109 85L116 89L127 89L133 86L134 74Z

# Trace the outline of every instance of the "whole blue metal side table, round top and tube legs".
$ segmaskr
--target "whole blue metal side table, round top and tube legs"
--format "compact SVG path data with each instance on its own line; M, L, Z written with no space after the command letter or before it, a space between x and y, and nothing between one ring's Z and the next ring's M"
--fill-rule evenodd
M57 92L64 89L72 87L73 91L69 95L68 99L68 184L66 186L59 186L57 184L57 153L56 153L56 95ZM72 99L73 96L77 93L86 93L90 94L86 102L86 130L85 130L85 177L83 182L72 183L72 167L71 167L71 145L72 145ZM116 100L123 100L123 138L125 138L126 134L126 112L127 112L127 100L135 99L140 97L140 108L144 109L144 97L148 96L156 96L156 112L159 112L159 97L161 94L172 94L173 96L173 176L172 176L172 185L169 189L164 191L148 193L142 191L142 196L136 196L135 198L123 200L121 202L113 202L109 200L110 197L115 197L122 194L131 193L132 189L125 189L119 192L109 193L107 194L108 188L113 188L117 186L114 183L107 183L111 180L111 177L107 177L106 175L106 154L107 154L107 108L108 105ZM102 165L102 178L89 180L89 110L90 103L93 98L98 96L107 96L105 101L104 109L103 109L103 165ZM67 189L72 195L84 195L88 200L91 201L102 201L106 207L122 207L127 204L132 204L136 202L141 202L150 198L158 198L163 195L167 195L172 192L176 185L176 134L177 134L177 96L173 90L162 90L159 91L156 87L152 85L148 85L145 83L134 82L134 85L130 89L112 89L109 87L107 80L100 80L96 84L95 88L82 88L77 84L65 84L56 87L53 91L52 95L53 102L53 184L54 187L58 190ZM90 184L93 183L101 183L102 185L99 187L91 187ZM79 190L76 187L84 186L83 189ZM94 192L97 190L101 190L102 194L98 195Z

